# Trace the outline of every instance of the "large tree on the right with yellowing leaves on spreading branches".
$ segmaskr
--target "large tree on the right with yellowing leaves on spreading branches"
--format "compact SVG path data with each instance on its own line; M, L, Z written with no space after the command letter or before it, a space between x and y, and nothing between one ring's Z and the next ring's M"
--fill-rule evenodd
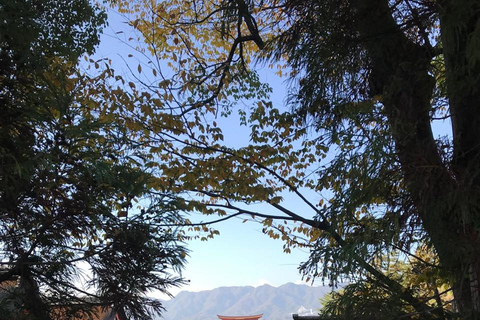
M184 211L259 219L287 252L310 248L307 277L371 279L409 306L402 316L478 317L478 1L116 5L151 57L135 83L150 97L137 126L154 188ZM290 79L289 108L272 105L259 63ZM235 110L251 130L241 148L216 119ZM434 137L442 120L452 133ZM448 288L386 271L395 252L425 263L419 248Z

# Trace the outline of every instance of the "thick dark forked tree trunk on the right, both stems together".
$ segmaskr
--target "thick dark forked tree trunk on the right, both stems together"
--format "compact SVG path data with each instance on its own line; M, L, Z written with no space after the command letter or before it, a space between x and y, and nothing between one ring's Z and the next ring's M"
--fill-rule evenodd
M455 1L458 0L451 3ZM452 171L442 162L431 131L431 97L435 85L429 75L432 53L406 38L391 15L388 0L352 0L351 4L359 17L355 21L357 30L367 39L372 95L383 97L407 190L442 267L453 279L460 311L476 317L480 310L477 258L480 240L476 229L477 199L480 199L480 112L477 111L480 70L478 63L475 70L466 67L466 42L478 17L460 21L470 29L459 31L458 25L452 25L447 18L462 4L443 7L442 23L447 21L452 28L442 27L442 34L446 35L443 46L454 125ZM467 17L471 16L471 10L464 10ZM458 22L458 12L452 19ZM472 75L474 79L469 81Z

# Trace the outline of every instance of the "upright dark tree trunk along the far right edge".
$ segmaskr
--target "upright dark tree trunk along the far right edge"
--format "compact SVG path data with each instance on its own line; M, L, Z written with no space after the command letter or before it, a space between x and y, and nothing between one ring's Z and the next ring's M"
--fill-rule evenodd
M461 310L480 319L480 47L475 47L480 3L439 1L439 13L458 183L451 198L461 227L455 298Z

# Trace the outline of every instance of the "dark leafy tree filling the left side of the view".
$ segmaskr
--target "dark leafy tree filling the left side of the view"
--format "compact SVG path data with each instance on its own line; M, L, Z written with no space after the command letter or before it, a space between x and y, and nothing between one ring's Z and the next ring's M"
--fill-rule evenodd
M183 283L182 218L104 117L120 78L79 67L105 21L88 0L0 4L1 319L150 319L162 306L146 294Z

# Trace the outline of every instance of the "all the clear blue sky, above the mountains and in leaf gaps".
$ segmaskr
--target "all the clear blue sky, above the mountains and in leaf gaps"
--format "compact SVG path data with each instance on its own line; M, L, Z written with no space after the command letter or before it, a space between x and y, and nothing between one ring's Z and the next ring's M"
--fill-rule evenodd
M111 12L109 26L105 29L100 47L95 58L110 58L116 72L128 77L125 61L130 61L128 54L138 56L138 53L122 43L120 39L127 39L129 27L123 19ZM124 31L124 33L118 33ZM136 65L136 64L134 64ZM124 70L124 71L120 71ZM285 88L273 72L262 75L274 87L272 96L277 103L282 103ZM220 122L217 121L217 122ZM237 119L221 120L229 130L225 132L225 139L234 144L248 143L248 133L242 133ZM295 206L295 203L290 203ZM192 218L194 220L194 218ZM198 220L207 220L199 217ZM262 233L262 226L255 222L244 223L244 218L231 220L216 225L220 236L206 242L193 240L187 243L190 257L183 272L183 276L190 281L189 285L174 288L172 294L181 290L200 291L221 286L259 286L270 284L280 286L288 282L305 283L298 272L300 262L308 258L308 252L294 249L290 254L283 252L281 240L270 239ZM321 284L321 283L316 283ZM165 298L162 296L162 298Z

